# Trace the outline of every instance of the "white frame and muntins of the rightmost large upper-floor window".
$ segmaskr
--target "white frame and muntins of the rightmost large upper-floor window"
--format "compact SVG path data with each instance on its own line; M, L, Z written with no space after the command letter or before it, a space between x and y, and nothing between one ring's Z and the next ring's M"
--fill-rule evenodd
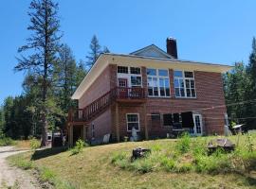
M175 94L175 97L176 98L196 98L196 87L195 87L195 79L194 79L194 72L193 71L187 71L187 70L174 70L174 72L175 71L180 71L180 72L182 72L182 77L175 77L174 76L174 94ZM185 72L192 72L192 77L185 77ZM178 79L178 85L179 85L179 80L180 79L182 79L183 80L183 83L184 83L184 94L185 94L185 96L177 96L176 95L176 87L175 87L175 79ZM193 80L193 86L194 86L194 96L188 96L188 94L187 94L187 86L186 86L186 79L188 80ZM190 85L191 85L191 82L190 82ZM178 87L179 88L179 93L180 93L180 86ZM191 86L190 86L190 89L192 89L191 88Z

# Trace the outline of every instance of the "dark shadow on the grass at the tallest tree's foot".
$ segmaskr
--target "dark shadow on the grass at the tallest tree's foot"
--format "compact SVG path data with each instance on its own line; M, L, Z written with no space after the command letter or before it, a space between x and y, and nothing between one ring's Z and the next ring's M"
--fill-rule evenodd
M46 148L42 150L36 150L31 156L31 160L39 160L42 158L46 158L49 156L54 156L56 154L62 153L66 151L68 147L54 147L54 148Z

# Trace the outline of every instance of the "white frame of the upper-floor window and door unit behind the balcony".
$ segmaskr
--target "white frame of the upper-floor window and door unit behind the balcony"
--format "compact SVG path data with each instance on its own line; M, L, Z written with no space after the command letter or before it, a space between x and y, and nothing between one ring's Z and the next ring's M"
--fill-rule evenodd
M118 73L118 67L117 67L117 83L119 84L119 78L127 78L127 87L142 87L142 69L141 67L138 66L125 66L125 65L118 65L121 67L127 67L128 68L128 74L125 73ZM140 74L131 74L131 67L139 68L140 69ZM132 77L140 77L141 78L141 83L140 85L132 85Z

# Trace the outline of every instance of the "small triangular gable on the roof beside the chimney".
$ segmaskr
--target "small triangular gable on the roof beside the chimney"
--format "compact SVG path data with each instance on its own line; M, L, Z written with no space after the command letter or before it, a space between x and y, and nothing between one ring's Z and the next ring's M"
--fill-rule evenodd
M143 48L140 48L137 51L130 53L130 55L174 60L173 56L169 55L155 44L151 44Z

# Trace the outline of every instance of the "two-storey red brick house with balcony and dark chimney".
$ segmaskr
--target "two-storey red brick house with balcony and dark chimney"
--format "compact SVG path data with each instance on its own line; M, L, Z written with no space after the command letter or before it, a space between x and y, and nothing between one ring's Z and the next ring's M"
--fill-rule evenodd
M182 112L192 112L192 135L223 134L222 73L230 68L179 60L172 38L167 52L152 44L129 55L101 54L72 95L79 108L68 114L69 145L78 138L101 143L106 134L119 142L132 129L141 139L167 137L182 129Z

